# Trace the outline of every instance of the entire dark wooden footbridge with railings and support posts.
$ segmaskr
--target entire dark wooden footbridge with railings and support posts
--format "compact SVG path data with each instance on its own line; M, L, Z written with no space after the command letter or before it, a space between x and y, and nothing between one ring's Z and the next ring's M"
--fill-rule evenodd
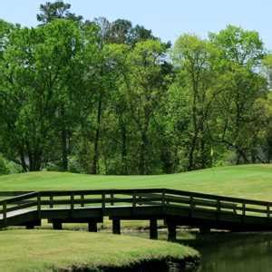
M158 219L165 221L169 239L176 238L177 226L202 231L272 230L272 202L175 189L0 192L0 196L9 196L0 200L0 228L34 228L41 225L41 219L48 219L55 229L61 229L62 223L77 222L88 223L90 231L97 231L97 223L109 217L115 234L121 232L121 220L150 220L151 238L158 237Z

